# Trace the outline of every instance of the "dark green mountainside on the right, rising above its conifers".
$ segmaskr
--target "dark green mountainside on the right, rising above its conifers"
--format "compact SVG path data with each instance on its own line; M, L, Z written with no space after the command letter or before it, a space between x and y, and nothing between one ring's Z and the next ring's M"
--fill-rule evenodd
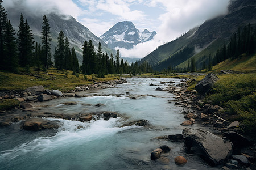
M207 20L200 27L193 28L176 40L160 46L139 63L146 61L153 66L157 65L157 70L167 69L170 65L185 68L193 57L197 67L201 67L210 53L213 56L218 48L229 42L230 36L238 27L242 28L248 23L256 23L256 1L231 0L227 14Z

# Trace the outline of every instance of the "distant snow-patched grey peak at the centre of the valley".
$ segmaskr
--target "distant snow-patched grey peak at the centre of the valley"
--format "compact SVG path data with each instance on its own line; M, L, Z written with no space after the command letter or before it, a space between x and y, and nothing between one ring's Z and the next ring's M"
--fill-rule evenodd
M155 35L155 31L149 32L147 29L144 29L141 32L135 28L132 22L124 21L116 23L109 31L100 36L100 38L110 48L131 49L133 45L152 40Z

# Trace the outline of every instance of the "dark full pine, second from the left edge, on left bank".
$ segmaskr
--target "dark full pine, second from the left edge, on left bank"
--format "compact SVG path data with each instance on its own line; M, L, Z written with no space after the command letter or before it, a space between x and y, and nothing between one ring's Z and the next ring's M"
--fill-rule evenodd
M10 20L6 19L6 29L3 34L3 52L7 59L7 61L5 61L5 69L18 72L18 56L16 54L16 39L14 37L15 34L16 33L13 29L13 25L11 25Z

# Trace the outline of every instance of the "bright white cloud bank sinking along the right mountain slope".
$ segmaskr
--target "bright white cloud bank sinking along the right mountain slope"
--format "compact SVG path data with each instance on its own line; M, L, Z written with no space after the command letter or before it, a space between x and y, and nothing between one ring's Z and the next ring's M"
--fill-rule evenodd
M152 0L148 6L156 7L160 5L166 11L159 16L161 24L158 33L152 41L134 46L133 49L120 48L120 53L124 57L142 58L157 48L164 42L170 42L189 29L203 24L207 19L225 14L229 0Z

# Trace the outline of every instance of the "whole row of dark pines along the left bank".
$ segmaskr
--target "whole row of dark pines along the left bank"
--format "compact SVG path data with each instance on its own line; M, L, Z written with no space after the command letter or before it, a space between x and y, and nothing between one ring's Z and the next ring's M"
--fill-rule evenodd
M30 70L30 67L34 67L35 70L48 69L53 65L53 62L51 27L47 16L43 16L42 44L34 41L34 35L23 14L20 14L20 24L16 38L16 33L10 20L7 19L2 2L0 0L0 70L18 72L18 67L24 67L27 70ZM65 37L64 32L60 31L57 37L57 47L53 54L53 66L59 70L72 70L73 73L81 72L85 75L98 74L100 77L104 77L106 74L139 73L145 70L144 65L139 67L137 63L129 66L127 61L120 59L119 50L117 50L115 59L112 53L110 57L108 53L102 53L101 42L99 42L98 50L95 52L92 40L85 41L82 53L82 65L79 66L74 46L70 48L68 37Z

